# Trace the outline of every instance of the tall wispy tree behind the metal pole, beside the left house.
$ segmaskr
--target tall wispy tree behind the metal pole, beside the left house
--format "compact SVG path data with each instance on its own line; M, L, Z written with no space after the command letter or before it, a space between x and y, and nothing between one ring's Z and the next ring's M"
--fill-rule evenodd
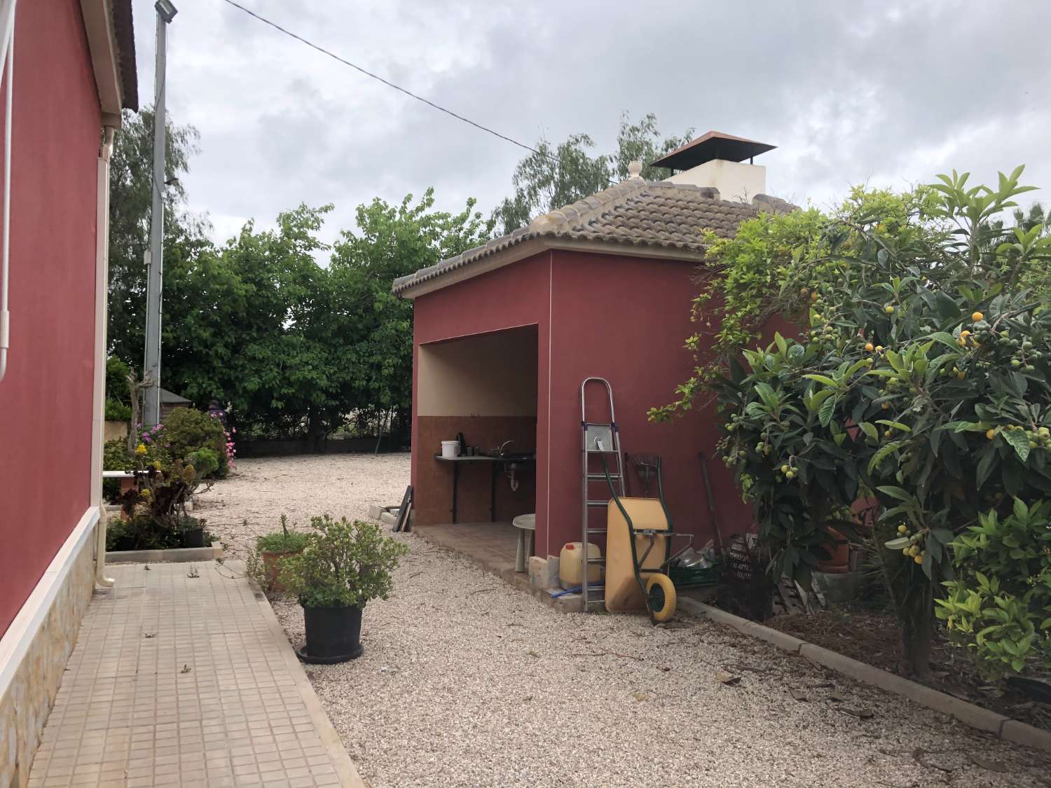
M165 263L185 252L185 244L207 243L207 223L185 210L179 177L189 169L200 134L192 126L168 121L164 190ZM141 365L145 343L146 267L153 181L153 112L124 110L109 163L109 352Z

